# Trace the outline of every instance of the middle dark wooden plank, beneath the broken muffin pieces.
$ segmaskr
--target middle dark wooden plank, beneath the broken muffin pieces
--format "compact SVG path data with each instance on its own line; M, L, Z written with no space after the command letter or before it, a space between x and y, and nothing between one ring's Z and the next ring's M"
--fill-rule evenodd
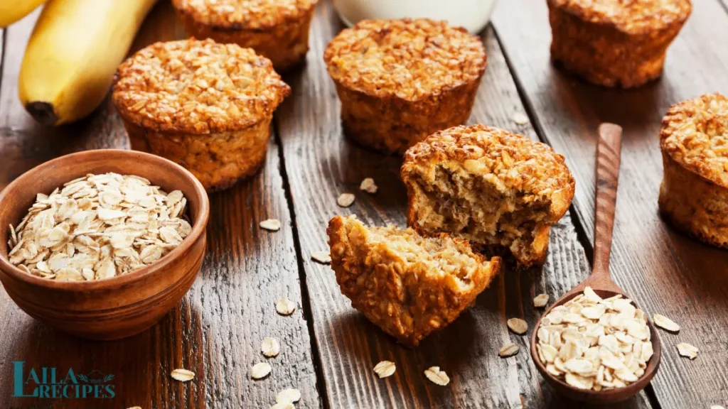
M323 50L341 29L329 1L320 4L312 27L311 51L303 72L286 80L294 97L280 108L277 125L295 210L306 287L312 308L317 352L331 408L566 408L566 402L539 378L531 364L526 337L511 335L505 321L524 317L533 325L539 311L531 299L538 293L563 293L587 277L587 261L567 215L553 229L545 269L518 272L509 266L480 295L475 308L445 330L430 335L414 350L405 349L369 323L339 292L330 267L309 260L313 251L328 249L325 226L336 214L355 213L365 222L405 224L406 194L399 178L401 159L381 156L348 143L341 135L339 102L325 71ZM507 65L491 31L486 32L488 69L472 122L485 122L535 138L530 126L511 120L523 111ZM359 191L372 177L373 195ZM357 201L342 209L336 197L352 192ZM513 340L521 353L497 357ZM397 365L394 376L380 380L372 368L380 360ZM451 376L447 387L427 381L423 371L439 365ZM644 394L625 404L646 408Z

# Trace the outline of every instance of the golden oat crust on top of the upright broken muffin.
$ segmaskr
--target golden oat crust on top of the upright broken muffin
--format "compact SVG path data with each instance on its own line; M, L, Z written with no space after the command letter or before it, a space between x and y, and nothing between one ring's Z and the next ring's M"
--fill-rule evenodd
M403 179L406 173L428 172L436 165L487 178L499 190L521 191L524 202L539 198L566 202L563 212L574 196L574 177L561 154L526 136L486 125L435 132L409 148L402 165ZM561 213L561 206L554 211Z

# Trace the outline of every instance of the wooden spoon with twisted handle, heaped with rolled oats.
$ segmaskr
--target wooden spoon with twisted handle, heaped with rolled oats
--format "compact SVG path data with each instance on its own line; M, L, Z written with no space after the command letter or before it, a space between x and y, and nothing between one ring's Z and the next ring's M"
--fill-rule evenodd
M627 400L660 366L660 338L644 311L609 275L622 129L599 127L593 272L546 310L531 357L561 394L591 403Z

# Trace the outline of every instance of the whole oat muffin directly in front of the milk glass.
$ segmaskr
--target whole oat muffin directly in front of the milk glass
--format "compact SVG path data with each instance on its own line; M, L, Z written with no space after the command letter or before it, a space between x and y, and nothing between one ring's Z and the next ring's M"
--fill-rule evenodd
M466 122L486 70L478 37L426 19L362 21L328 44L324 60L344 133L387 154Z

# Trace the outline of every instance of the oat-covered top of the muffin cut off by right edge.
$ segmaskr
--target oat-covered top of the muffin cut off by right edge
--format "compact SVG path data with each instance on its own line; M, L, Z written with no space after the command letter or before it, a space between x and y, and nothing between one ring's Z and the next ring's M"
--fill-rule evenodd
M660 148L685 169L728 187L728 98L716 93L671 106Z

